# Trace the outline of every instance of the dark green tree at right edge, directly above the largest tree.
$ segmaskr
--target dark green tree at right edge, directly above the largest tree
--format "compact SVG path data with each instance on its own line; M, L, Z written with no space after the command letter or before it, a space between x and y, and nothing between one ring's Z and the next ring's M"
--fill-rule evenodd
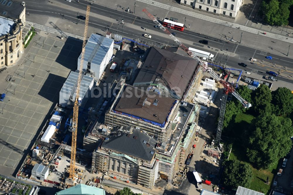
M288 88L277 88L273 92L272 102L275 105L276 115L290 114L293 111L293 94Z

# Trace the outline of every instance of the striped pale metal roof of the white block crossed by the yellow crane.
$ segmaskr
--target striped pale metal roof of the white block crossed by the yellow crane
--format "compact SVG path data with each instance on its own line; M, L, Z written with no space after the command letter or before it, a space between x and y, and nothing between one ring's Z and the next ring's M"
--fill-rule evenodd
M78 72L71 71L68 78L66 79L63 87L60 90L60 93L64 93L67 95L71 94L72 89L74 88L78 79ZM88 90L89 85L93 81L93 77L89 74L84 75L80 83L79 97L82 99ZM74 94L75 96L75 94Z

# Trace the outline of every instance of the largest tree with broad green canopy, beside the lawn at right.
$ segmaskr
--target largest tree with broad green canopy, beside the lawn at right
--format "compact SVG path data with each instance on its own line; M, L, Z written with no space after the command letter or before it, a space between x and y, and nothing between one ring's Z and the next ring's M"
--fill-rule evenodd
M292 147L290 137L293 135L292 121L289 118L265 113L255 119L250 134L247 157L258 168L270 168L285 156Z

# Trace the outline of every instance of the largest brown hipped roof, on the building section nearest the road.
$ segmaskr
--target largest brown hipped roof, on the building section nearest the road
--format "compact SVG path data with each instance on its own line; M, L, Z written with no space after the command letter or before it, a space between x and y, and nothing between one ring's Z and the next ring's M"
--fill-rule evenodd
M190 57L152 47L133 85L162 83L169 91L180 89L176 95L182 97L196 67Z

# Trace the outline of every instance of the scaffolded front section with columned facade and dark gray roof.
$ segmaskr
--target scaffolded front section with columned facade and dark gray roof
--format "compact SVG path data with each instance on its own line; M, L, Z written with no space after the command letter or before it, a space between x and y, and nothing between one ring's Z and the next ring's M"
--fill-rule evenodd
M152 188L158 177L156 140L139 129L108 135L93 152L92 170Z

